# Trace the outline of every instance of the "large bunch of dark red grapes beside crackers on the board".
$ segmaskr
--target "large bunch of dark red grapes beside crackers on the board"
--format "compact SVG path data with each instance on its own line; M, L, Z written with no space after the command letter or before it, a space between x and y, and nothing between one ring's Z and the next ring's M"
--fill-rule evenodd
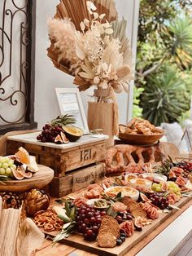
M77 209L76 222L78 223L78 232L84 234L85 240L94 241L98 236L98 229L102 222L102 216L105 211L95 210L89 205L81 205Z

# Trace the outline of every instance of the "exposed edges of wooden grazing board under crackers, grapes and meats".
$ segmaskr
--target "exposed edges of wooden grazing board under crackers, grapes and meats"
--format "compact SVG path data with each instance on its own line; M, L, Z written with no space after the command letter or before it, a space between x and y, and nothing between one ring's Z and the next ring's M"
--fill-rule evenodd
M185 205L191 198L183 197L179 202L177 202L177 207ZM159 214L159 218L155 219L151 225L145 226L142 228L142 232L135 231L133 236L126 238L124 243L120 246L114 248L100 248L98 247L97 241L85 241L84 237L78 234L72 234L66 239L60 241L64 245L75 247L76 249L82 249L92 254L102 255L102 256L122 256L129 252L135 245L141 242L146 236L150 235L151 232L154 232L157 227L164 223L168 218L172 217L172 214L176 210L172 210L169 213L162 212ZM50 237L55 237L58 232L45 232L46 235Z

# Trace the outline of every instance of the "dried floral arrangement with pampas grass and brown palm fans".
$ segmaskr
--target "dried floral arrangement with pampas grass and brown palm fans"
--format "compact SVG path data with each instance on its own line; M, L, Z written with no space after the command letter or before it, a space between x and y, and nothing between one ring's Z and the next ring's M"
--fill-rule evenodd
M48 56L72 75L79 90L89 86L120 93L133 79L126 20L118 20L113 0L60 0L48 21Z

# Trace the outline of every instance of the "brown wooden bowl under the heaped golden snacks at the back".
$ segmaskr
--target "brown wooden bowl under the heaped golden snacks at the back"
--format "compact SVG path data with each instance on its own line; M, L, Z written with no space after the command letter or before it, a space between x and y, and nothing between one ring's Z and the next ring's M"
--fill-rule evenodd
M160 129L159 129L160 130ZM160 134L156 135L129 135L124 133L119 133L119 138L124 143L133 145L151 145L156 143L159 139L164 136L164 130L161 130Z

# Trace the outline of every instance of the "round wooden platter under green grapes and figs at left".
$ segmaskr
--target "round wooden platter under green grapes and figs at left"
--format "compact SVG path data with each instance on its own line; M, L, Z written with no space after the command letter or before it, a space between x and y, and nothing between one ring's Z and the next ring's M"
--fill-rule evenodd
M9 180L0 183L0 191L24 192L31 188L44 188L54 178L54 170L47 166L38 165L39 170L29 179Z

